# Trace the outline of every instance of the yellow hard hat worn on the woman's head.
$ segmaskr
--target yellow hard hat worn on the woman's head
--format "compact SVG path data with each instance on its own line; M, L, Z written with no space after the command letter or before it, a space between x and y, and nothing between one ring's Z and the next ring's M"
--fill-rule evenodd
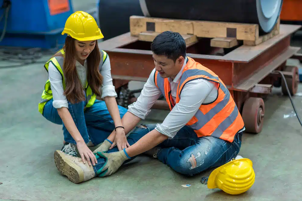
M83 11L76 11L67 18L62 35L64 33L80 41L104 38L95 19Z

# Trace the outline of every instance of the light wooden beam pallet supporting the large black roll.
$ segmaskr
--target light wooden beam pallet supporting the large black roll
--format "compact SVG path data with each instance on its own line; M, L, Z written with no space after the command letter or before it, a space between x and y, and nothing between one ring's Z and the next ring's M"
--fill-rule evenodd
M201 20L178 20L156 17L131 16L131 36L139 40L152 42L164 31L182 34L187 46L198 42L198 38L212 38L212 47L231 48L243 41L244 45L256 46L279 34L280 17L274 29L264 36L259 36L258 24L213 22Z

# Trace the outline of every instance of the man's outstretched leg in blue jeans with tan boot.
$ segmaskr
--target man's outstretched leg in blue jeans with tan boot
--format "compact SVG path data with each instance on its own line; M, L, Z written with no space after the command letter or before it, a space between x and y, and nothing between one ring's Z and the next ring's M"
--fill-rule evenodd
M154 127L153 125L150 125L150 127ZM144 135L149 133L150 129L148 128L148 125L139 125L135 127L135 129L131 132L131 134L127 137L127 141L130 145L133 145L136 143L140 138L142 138ZM110 152L118 152L117 146L115 146L112 149L108 150L108 153ZM66 155L62 151L55 151L54 153L55 158L55 164L57 169L61 172L61 174L66 175L70 181L73 183L80 183L83 181L87 181L96 175L96 172L101 169L105 162L105 158L99 158L98 163L95 166L89 166L88 163L84 164L82 162L82 159L79 157L74 157L71 155ZM133 160L135 157L132 157L131 159L124 162L127 163L131 160Z

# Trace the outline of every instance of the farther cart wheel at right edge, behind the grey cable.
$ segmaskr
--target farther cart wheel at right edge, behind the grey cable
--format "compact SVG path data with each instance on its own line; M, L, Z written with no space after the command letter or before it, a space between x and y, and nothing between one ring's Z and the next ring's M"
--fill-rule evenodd
M284 68L284 71L291 72L293 75L293 77L285 77L289 92L293 96L295 93L297 93L299 82L300 82L299 69L297 66L286 66ZM288 95L283 78L281 78L281 87L282 87L283 95Z

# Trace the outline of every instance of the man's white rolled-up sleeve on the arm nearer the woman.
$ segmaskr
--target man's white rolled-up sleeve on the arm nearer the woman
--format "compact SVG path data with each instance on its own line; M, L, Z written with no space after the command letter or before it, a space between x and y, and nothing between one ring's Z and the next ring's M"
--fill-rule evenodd
M128 105L128 111L141 119L146 118L146 116L150 113L154 102L162 94L154 83L154 73L155 68L150 73L149 78L140 93L140 96L137 98L137 101Z

